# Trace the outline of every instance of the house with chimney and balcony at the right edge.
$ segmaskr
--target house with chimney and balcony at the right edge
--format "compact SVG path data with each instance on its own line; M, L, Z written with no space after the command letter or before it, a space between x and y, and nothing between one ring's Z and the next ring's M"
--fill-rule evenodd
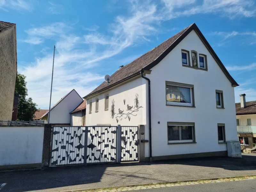
M236 103L236 125L241 150L244 153L256 151L256 101L245 101L245 94L240 95Z

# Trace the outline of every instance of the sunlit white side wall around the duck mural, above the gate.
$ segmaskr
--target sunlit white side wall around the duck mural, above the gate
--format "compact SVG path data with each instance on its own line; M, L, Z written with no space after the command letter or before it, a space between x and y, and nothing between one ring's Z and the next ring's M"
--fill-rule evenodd
M110 90L108 92L102 93L98 96L95 96L91 99L87 99L86 107L86 126L97 125L97 124L110 124L111 126L116 126L120 124L121 126L138 126L140 124L145 125L145 139L149 139L148 132L148 82L143 78L138 78L132 82L124 84L116 89ZM138 112L133 112L132 114L136 116L131 116L131 120L128 118L119 119L118 123L116 122L116 115L114 119L111 118L110 109L111 101L115 100L115 113L118 113L118 109L124 110L124 113L127 113L127 104L134 107L135 94L139 94L140 108ZM109 94L109 104L108 110L105 110L105 94ZM95 112L95 101L96 98L99 98L99 110ZM126 100L125 105L124 101ZM92 100L92 113L89 113L90 100ZM145 143L145 156L149 156L149 145Z

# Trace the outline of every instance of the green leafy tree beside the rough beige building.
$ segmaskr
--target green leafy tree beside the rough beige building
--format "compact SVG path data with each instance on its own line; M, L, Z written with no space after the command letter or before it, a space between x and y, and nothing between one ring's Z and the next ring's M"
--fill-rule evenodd
M32 101L32 98L28 96L28 89L26 87L27 82L25 81L26 76L18 73L15 83L15 93L20 95L19 105L18 105L18 121L29 121L33 120L35 112L37 111L36 103Z

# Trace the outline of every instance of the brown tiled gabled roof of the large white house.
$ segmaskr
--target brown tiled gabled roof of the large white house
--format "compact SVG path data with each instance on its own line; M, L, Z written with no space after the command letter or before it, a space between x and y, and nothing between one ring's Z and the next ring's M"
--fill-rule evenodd
M230 83L234 86L238 86L236 81L230 76L227 69L224 67L223 63L220 61L219 57L213 51L210 44L207 42L199 28L195 23L189 25L187 28L181 30L179 33L175 34L171 38L165 40L163 43L153 48L152 50L146 52L139 58L135 59L131 63L125 65L124 67L118 69L113 75L110 76L110 82L103 82L94 89L91 93L86 95L84 98L89 97L93 93L97 93L103 91L105 89L110 88L116 84L119 84L126 79L132 78L133 76L139 75L141 70L150 70L154 66L156 66L164 57L172 51L192 30L195 30L197 35L201 38L202 42L208 49L208 51L212 54L212 57L220 66L223 73L227 76Z

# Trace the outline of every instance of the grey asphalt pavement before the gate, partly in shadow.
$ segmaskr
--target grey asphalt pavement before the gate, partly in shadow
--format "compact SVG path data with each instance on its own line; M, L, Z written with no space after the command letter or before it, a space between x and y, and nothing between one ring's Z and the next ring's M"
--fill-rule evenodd
M256 175L256 156L100 164L0 172L1 192L59 191Z

